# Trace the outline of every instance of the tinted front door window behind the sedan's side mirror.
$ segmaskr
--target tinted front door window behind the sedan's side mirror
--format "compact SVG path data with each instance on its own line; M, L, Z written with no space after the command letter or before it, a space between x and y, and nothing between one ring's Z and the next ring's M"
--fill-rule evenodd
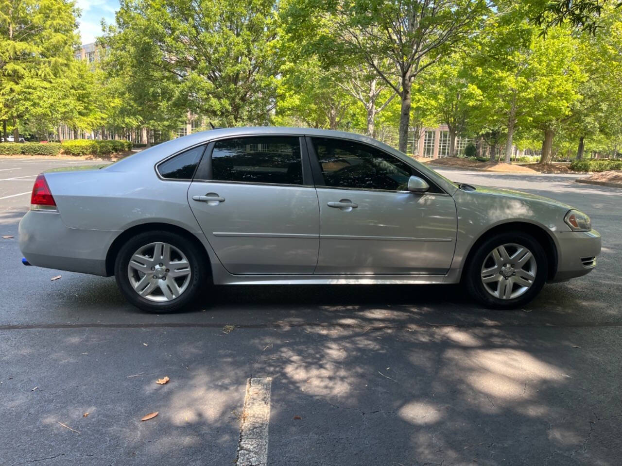
M324 184L336 188L404 191L411 175L399 158L369 145L339 139L313 139Z

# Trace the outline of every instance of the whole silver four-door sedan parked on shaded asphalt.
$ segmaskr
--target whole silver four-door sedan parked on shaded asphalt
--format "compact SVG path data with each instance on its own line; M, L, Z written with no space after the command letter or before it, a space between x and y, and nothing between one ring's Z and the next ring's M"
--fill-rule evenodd
M259 127L39 175L24 263L114 275L152 312L207 283L463 283L490 308L585 275L601 240L552 199L456 185L361 135Z

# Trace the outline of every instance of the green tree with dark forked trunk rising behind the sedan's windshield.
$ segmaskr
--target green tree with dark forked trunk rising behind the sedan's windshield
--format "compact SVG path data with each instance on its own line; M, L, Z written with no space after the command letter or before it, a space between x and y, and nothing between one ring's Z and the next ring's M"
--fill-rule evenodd
M374 68L401 100L399 149L406 152L412 84L430 65L478 29L483 0L292 0L289 27L315 35L325 53L356 57ZM310 32L309 32L310 31ZM378 67L388 59L390 71Z

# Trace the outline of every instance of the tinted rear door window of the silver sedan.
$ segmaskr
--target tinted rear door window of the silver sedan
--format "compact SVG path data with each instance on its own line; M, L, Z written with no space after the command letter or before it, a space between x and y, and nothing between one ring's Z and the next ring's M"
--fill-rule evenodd
M298 137L261 136L217 141L211 155L213 180L302 185Z

